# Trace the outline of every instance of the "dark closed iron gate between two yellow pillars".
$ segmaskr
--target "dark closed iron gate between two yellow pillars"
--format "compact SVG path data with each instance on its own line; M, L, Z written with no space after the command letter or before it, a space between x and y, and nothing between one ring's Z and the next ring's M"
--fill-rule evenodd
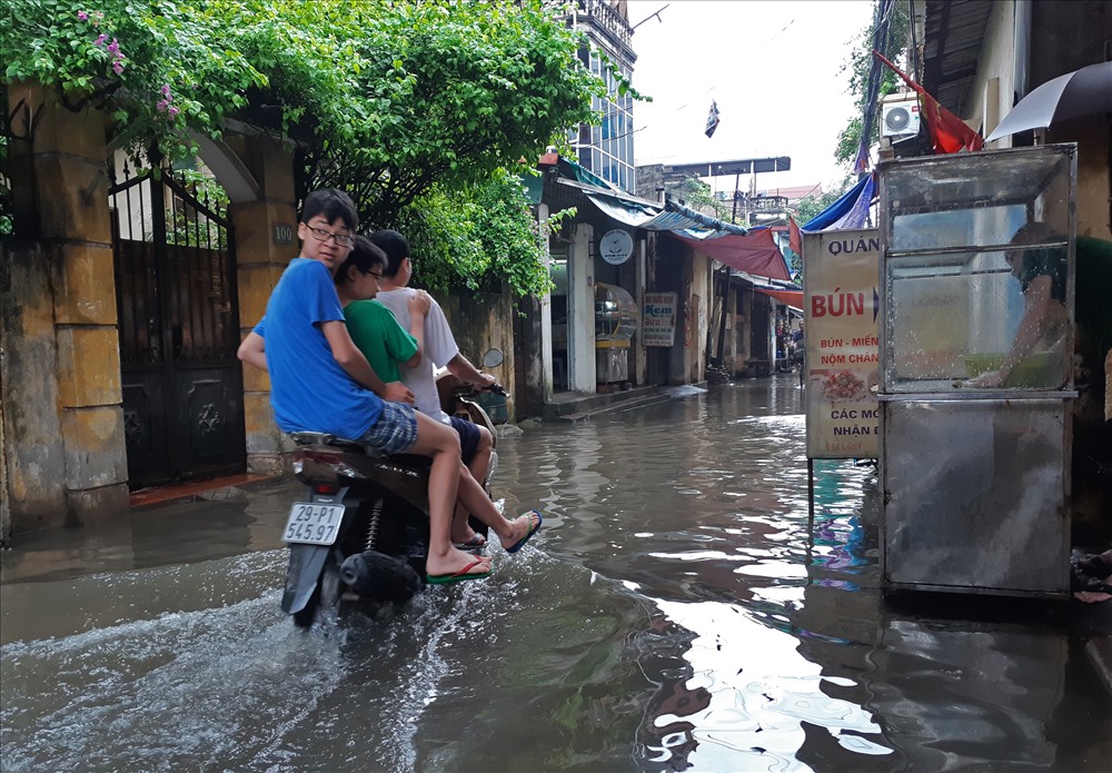
M129 485L242 472L227 210L200 176L109 170Z

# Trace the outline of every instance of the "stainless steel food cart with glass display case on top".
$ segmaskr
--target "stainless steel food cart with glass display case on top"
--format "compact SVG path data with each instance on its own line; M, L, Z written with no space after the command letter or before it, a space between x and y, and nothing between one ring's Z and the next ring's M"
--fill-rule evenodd
M878 176L882 587L1066 596L1075 146ZM1039 271L1062 334L1019 358Z

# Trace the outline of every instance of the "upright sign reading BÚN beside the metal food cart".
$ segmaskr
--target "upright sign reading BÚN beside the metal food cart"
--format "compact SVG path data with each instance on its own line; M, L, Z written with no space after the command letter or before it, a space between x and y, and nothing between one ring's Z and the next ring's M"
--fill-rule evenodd
M804 235L805 402L813 459L877 456L880 252L875 229Z

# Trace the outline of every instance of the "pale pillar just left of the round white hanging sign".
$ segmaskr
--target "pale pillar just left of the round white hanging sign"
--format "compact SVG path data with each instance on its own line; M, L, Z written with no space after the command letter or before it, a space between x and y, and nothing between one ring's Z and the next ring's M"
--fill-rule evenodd
M594 228L575 226L567 256L567 348L573 392L595 393L595 254Z

